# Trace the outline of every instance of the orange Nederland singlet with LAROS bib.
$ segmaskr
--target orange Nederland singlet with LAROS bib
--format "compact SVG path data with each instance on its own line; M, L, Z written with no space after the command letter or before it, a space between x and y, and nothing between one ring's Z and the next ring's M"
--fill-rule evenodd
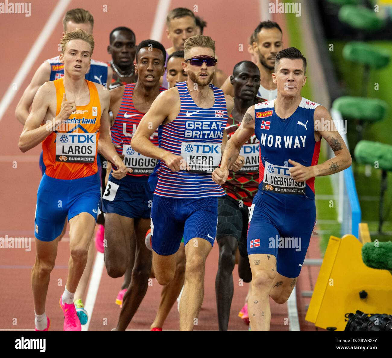
M76 106L61 130L51 133L43 142L46 175L56 179L78 179L97 172L101 104L93 82L85 80L90 90L90 103ZM60 113L65 93L63 79L53 81L56 87L56 116ZM45 125L45 124L43 124Z

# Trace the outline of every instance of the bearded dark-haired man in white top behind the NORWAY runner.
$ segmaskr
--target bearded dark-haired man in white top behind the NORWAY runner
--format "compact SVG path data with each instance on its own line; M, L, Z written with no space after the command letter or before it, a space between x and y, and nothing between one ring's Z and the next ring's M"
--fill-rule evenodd
M263 21L254 30L253 38L253 51L259 58L257 66L261 76L256 97L258 102L271 101L278 93L271 74L274 72L275 56L283 49L282 30L276 22ZM222 90L225 94L234 95L230 77L222 85Z

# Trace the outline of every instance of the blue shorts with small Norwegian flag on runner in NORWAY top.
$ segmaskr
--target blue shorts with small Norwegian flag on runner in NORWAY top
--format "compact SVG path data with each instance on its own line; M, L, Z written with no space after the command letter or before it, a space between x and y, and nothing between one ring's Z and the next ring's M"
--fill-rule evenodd
M314 200L259 190L249 213L248 255L274 255L278 273L298 277L315 222Z

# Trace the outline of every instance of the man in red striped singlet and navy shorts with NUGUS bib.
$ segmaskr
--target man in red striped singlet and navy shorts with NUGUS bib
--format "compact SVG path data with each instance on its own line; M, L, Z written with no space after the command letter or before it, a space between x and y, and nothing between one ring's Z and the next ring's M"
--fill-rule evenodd
M131 283L123 296L117 331L125 331L142 302L151 270L151 252L145 246L145 234L150 228L153 196L147 180L157 160L135 151L132 136L154 99L165 90L159 85L165 58L161 43L142 41L136 48L138 81L110 91L110 110L115 118L112 141L118 154L125 156L125 165L132 169L122 180L109 175L102 199L102 211L106 213L105 265L109 276L121 277L134 256ZM151 133L151 139L158 144L158 132Z

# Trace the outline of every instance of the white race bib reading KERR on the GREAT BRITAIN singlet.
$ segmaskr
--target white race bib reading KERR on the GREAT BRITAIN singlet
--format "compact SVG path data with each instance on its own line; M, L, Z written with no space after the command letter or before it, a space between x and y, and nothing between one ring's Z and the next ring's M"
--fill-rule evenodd
M221 160L221 143L182 142L181 157L190 173L212 173Z

